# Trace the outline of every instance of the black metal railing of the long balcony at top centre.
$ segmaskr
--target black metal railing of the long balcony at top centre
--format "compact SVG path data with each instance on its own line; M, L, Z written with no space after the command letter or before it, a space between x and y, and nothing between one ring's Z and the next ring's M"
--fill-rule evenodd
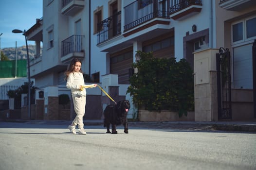
M168 0L136 0L124 7L125 31L156 17L169 18Z

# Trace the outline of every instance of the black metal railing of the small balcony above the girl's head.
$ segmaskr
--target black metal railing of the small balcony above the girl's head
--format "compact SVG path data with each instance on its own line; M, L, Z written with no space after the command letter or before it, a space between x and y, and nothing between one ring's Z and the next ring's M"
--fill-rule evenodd
M61 56L72 52L81 52L84 35L72 35L61 42Z

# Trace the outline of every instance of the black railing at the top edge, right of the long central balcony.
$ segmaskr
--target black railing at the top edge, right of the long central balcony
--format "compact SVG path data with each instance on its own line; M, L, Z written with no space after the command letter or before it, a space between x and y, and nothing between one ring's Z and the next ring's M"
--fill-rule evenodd
M201 0L170 0L170 15L190 5L202 5Z

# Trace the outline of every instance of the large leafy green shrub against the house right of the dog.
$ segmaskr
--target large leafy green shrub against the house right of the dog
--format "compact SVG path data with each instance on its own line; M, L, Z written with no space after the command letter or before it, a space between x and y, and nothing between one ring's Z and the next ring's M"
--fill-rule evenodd
M127 90L134 103L149 111L177 111L180 117L194 110L193 71L185 59L176 62L175 58L154 58L152 52L137 54L140 61L132 68L138 72L129 78Z

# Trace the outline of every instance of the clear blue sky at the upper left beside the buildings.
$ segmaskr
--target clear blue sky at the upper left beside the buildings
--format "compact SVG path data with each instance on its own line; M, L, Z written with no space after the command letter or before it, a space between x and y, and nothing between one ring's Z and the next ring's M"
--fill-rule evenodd
M26 45L22 34L14 34L12 30L28 30L36 19L43 17L43 0L0 0L0 48ZM35 45L34 41L28 44Z

